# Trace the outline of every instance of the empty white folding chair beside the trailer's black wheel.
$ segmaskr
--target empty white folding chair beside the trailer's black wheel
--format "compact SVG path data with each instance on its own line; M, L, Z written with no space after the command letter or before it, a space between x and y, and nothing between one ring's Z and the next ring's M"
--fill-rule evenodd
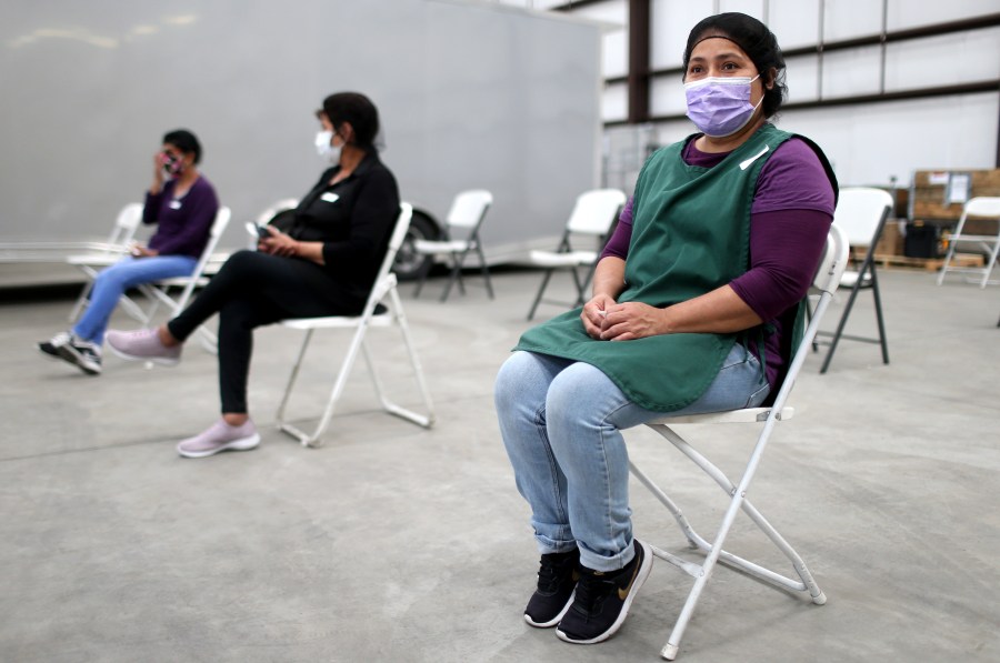
M441 293L442 302L448 299L448 293L451 292L451 287L456 282L458 282L459 291L466 294L466 285L462 282L462 263L464 263L469 253L476 253L479 258L479 268L486 280L487 293L490 295L490 299L493 299L490 270L487 265L486 255L482 252L482 241L479 239L480 228L492 203L493 194L489 191L482 189L462 191L454 197L454 202L451 203L451 209L444 219L443 237L436 241L417 240L413 242L413 251L419 254L448 254L451 258L451 275L448 279L448 284L444 285L444 292ZM456 238L454 235L458 233L462 233L464 237ZM427 281L427 272L420 278L413 297L420 297L424 281Z

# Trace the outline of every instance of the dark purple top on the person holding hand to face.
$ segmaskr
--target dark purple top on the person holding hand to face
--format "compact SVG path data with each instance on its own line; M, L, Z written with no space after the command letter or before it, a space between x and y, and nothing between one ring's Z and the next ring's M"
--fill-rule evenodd
M182 198L173 197L177 181L170 180L158 194L146 192L142 222L157 224L149 248L161 255L200 258L219 211L219 199L204 175L199 175Z

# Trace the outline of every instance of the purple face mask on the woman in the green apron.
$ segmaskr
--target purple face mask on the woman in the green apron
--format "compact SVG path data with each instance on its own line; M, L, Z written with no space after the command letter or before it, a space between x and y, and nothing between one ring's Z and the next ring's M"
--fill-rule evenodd
M750 83L760 78L709 77L684 83L688 117L706 135L726 138L747 125L757 107L750 103Z

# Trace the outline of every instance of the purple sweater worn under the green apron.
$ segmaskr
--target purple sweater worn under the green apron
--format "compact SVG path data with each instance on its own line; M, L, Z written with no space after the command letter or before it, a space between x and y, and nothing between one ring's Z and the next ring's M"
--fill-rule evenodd
M691 140L683 160L689 165L712 168L728 154L702 152ZM781 340L792 318L784 313L793 312L790 308L806 297L833 221L833 189L812 148L796 138L779 145L757 181L750 210L750 269L729 284L761 320L776 328L764 342L771 388L788 359L781 354ZM601 258L626 260L631 237L629 200ZM758 355L756 346L750 350Z

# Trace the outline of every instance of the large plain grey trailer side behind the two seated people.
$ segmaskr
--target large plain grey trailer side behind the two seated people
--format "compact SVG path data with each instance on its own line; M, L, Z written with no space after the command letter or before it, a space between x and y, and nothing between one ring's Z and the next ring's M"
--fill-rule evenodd
M313 111L357 90L402 197L441 217L492 190L484 243L517 258L598 183L600 48L597 23L486 2L7 0L0 241L103 235L180 127L234 221L256 217L313 184Z

